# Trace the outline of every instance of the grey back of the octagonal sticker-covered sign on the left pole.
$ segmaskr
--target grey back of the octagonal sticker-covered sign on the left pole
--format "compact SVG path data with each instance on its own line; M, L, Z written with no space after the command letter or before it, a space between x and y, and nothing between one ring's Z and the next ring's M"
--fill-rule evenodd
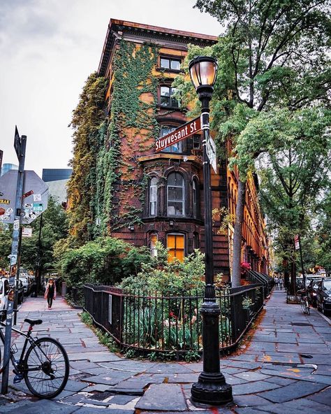
M3 223L14 222L17 174L17 170L10 170L0 177L0 192L3 193L0 208L5 210L0 214L0 221ZM23 194L21 223L30 224L47 208L48 186L34 171L24 171Z

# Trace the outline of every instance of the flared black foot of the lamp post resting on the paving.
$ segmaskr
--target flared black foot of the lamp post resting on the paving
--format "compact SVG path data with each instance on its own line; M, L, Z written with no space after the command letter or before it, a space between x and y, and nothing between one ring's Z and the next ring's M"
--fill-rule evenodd
M192 403L221 406L233 401L232 387L222 373L200 373L198 383L191 388Z

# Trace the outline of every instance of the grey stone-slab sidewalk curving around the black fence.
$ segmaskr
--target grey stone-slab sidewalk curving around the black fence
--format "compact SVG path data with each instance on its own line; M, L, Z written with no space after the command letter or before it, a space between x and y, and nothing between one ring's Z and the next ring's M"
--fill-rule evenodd
M57 399L38 401L25 394L24 381L14 388L10 376L15 391L8 399L0 396L1 414L331 413L331 322L315 309L304 315L299 305L287 305L284 291L275 291L267 301L250 343L221 358L221 371L233 385L233 404L212 409L197 409L189 401L201 363L165 364L112 354L63 299L47 310L43 299L30 298L18 317L43 319L34 332L65 346L71 378ZM21 344L17 341L18 348ZM13 405L10 398L18 402Z

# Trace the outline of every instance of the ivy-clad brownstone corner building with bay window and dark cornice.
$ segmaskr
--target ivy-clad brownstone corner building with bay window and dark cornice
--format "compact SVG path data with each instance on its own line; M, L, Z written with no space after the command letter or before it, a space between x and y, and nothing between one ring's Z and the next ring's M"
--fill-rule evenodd
M214 36L110 20L97 73L105 85L104 119L95 129L94 144L86 143L91 148L86 167L93 194L87 224L92 236L147 245L152 255L160 241L170 259L181 260L195 248L204 251L201 137L191 136L159 153L155 143L189 120L172 87L187 45L216 41ZM73 169L75 175L75 157ZM267 243L253 178L248 188L242 260L266 272ZM82 200L76 196L73 204L79 206ZM217 173L212 171L212 207L234 213L236 197L236 173L223 161ZM233 228L229 224L220 232L217 215L213 225L214 268L230 276Z

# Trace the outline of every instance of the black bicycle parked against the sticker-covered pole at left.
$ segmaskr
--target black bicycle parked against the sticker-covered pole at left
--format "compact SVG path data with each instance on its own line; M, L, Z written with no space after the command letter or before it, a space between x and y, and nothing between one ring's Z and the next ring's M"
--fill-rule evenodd
M0 310L0 313L6 313L6 310ZM14 384L20 383L23 378L31 394L38 398L52 399L57 397L68 381L69 376L69 359L64 347L53 338L32 338L31 332L34 325L43 323L43 320L24 319L29 323L27 334L12 327L12 331L25 337L24 345L20 359L15 359L18 352L15 343L10 347L10 356L0 366L0 373L11 360L15 373ZM0 322L0 345L4 345L4 334ZM29 348L27 348L29 344ZM26 352L27 351L27 352ZM0 348L1 363L1 348Z

